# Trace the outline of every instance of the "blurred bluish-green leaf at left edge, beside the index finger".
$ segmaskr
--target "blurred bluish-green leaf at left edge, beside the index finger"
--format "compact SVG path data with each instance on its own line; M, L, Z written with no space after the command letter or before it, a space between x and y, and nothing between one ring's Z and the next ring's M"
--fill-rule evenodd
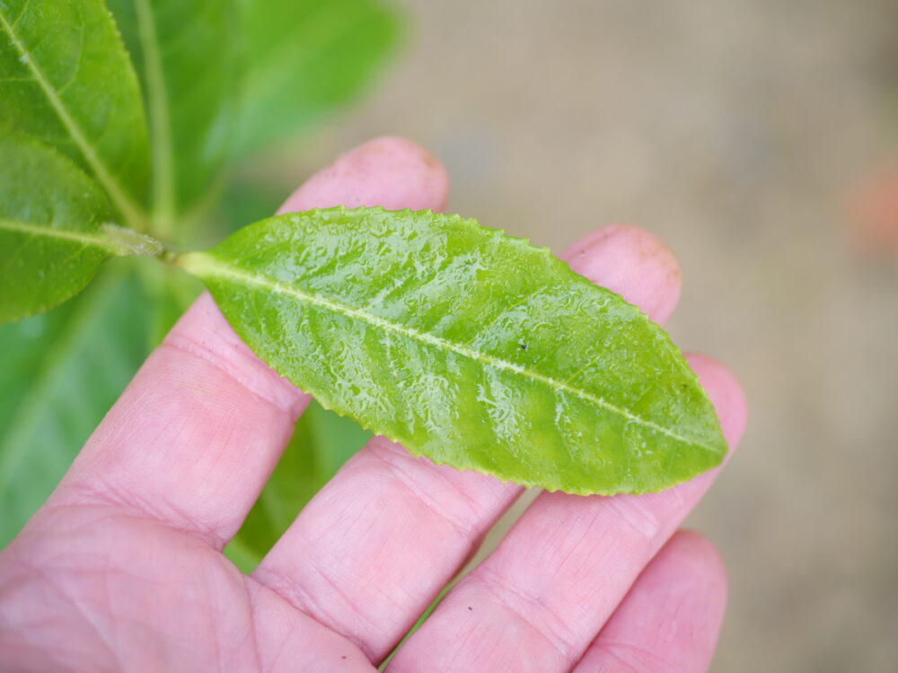
M118 266L119 263L117 263ZM147 354L145 295L127 269L0 327L0 548L38 509Z

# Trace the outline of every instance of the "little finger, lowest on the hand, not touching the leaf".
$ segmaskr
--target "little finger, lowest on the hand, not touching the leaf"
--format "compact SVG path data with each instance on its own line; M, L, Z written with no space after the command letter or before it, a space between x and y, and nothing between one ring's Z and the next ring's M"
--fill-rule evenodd
M681 530L639 575L574 673L706 671L725 607L720 556L708 540Z

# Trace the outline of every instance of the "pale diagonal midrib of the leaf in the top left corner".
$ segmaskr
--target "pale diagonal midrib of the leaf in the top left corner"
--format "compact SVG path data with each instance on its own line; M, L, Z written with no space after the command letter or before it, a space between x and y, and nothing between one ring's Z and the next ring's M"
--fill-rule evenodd
M25 11L27 11L27 8ZM21 17L19 18L21 19ZM18 20L16 21L18 22ZM38 83L40 90L47 97L50 106L57 113L57 117L62 122L63 126L66 127L68 135L75 141L75 145L77 145L84 156L84 160L90 165L103 188L106 189L110 200L119 208L119 211L121 211L121 214L125 216L125 219L131 226L138 230L142 229L143 227L141 224L143 223L143 217L140 214L140 209L134 204L130 197L128 197L125 190L119 186L119 182L112 177L110 171L107 170L106 165L101 162L100 157L97 156L97 153L84 135L84 131L82 131L75 119L69 114L69 111L66 108L65 103L59 97L57 90L48 81L37 63L34 62L34 57L28 49L25 48L22 39L18 37L14 25L6 18L2 6L0 6L0 25L3 26L6 34L9 35L13 47L19 53L20 61L31 71L31 77Z

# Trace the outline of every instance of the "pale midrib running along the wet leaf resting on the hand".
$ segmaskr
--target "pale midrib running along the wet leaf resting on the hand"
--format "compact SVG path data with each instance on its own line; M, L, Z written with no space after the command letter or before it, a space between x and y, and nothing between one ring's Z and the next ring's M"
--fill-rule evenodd
M291 285L279 283L264 275L253 274L240 267L233 267L220 259L214 258L210 254L191 253L189 255L183 255L180 258L180 266L188 270L190 273L194 273L196 275L199 275L200 277L217 276L230 278L240 284L255 286L269 293L276 293L287 297L292 297L296 300L299 300L300 302L308 302L310 304L333 311L335 313L339 313L341 315L348 316L350 318L363 320L364 322L373 325L375 328L389 329L405 337L409 337L429 345L436 345L437 347L452 351L456 354L460 354L463 357L475 360L481 364L490 365L496 367L497 369L512 371L516 374L523 375L530 379L538 380L541 383L549 386L551 389L555 389L556 391L564 391L571 395L574 395L577 398L585 399L588 402L592 402L596 406L603 407L613 414L621 415L624 418L629 419L629 421L632 421L633 423L642 425L650 430L654 430L656 433L665 434L671 439L682 441L684 444L688 444L690 446L697 446L700 449L707 450L709 451L709 453L712 453L714 455L720 454L719 450L715 449L709 444L706 444L703 441L697 441L694 439L683 437L681 434L675 433L673 430L665 428L663 425L656 424L653 421L636 415L627 409L613 405L608 400L600 398L597 395L589 392L588 390L577 388L576 386L572 386L565 381L553 379L550 376L541 374L539 371L533 371L532 369L523 367L520 364L510 363L507 360L496 357L495 355L482 353L466 345L456 344L455 342L449 341L448 339L435 337L434 335L427 334L426 332L419 332L418 330L409 328L405 325L391 322L390 320L383 319L380 316L376 316L365 310L357 309L340 302L335 302L331 299L324 299L323 297L319 297L314 294L304 293L302 290L299 290Z

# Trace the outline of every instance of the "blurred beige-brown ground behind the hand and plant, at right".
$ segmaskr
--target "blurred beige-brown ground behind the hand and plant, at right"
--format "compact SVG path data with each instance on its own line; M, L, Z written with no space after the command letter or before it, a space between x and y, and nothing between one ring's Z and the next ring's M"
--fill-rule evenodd
M453 212L556 250L604 223L660 235L674 338L751 406L690 521L732 581L713 670L894 670L898 251L858 240L855 202L898 159L898 6L411 5L398 66L272 179L398 133L445 162Z

